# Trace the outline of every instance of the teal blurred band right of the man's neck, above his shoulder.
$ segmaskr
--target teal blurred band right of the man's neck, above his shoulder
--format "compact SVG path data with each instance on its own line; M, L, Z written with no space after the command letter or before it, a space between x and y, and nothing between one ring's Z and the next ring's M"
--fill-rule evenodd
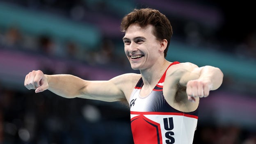
M241 80L255 85L256 59L255 61L238 59L228 53L220 53L217 50L205 50L194 48L181 43L171 42L167 59L180 62L192 62L198 66L215 66L222 70L225 76L234 80Z

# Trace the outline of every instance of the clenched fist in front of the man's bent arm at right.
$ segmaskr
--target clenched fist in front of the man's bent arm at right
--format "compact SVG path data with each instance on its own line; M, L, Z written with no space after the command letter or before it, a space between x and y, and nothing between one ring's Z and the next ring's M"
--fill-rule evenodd
M212 88L213 84L210 80L190 80L187 82L187 98L189 101L195 101L196 97L207 97Z

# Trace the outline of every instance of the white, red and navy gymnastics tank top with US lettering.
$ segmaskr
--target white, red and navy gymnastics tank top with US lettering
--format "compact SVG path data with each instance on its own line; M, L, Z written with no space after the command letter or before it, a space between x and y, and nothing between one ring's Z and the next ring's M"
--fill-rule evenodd
M173 62L169 67L178 63ZM192 144L193 142L198 111L181 112L167 103L162 91L166 71L148 96L139 95L143 86L142 78L137 82L130 96L131 128L135 144Z

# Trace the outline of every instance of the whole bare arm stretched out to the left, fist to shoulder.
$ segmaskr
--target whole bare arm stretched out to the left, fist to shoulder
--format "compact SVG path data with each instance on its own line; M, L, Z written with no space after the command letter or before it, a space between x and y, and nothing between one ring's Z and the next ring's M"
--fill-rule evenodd
M24 85L27 89L41 92L46 89L65 98L87 98L101 101L121 101L129 95L133 82L123 74L110 80L89 81L74 75L46 75L42 71L32 71L26 75ZM135 78L137 79L138 76Z

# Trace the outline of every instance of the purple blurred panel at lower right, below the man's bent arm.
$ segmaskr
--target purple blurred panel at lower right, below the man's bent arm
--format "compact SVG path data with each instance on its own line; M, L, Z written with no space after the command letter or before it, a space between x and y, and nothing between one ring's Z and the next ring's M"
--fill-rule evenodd
M199 105L202 121L256 128L256 97L218 91L201 98Z

